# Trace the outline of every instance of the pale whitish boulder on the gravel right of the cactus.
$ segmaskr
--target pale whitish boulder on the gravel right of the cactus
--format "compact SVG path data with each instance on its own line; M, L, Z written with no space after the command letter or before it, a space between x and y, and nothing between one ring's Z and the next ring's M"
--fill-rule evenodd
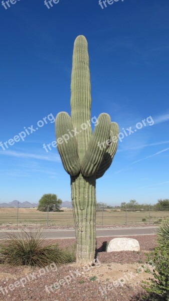
M139 251L139 242L133 238L114 238L112 239L107 248L107 252L120 252L120 251Z

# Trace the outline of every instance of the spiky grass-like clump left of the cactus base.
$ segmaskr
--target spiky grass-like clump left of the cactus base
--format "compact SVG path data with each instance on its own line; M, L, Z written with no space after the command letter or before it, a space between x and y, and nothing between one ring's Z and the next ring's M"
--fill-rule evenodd
M7 234L7 239L0 246L0 261L10 265L44 267L52 262L68 262L68 254L57 244L49 244L45 237L41 237L40 230L35 233L22 230L19 236L15 233Z

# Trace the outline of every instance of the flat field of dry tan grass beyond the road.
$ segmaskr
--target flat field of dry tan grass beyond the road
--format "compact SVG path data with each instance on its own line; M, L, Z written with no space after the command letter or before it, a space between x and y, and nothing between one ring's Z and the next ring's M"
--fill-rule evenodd
M151 223L157 223L169 217L169 212L151 211ZM146 219L146 220L142 220ZM0 225L16 224L17 208L0 208ZM19 208L19 224L47 224L47 212L40 212L36 208ZM49 225L73 226L73 211L68 212L49 212ZM125 224L126 216L123 211L104 211L96 212L96 225L117 225ZM127 224L149 223L149 212L137 211L127 212Z

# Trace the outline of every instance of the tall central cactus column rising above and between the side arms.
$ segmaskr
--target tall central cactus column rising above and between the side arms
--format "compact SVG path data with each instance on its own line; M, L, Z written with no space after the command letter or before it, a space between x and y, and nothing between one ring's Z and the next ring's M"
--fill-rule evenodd
M84 36L78 36L74 43L70 103L73 126L79 132L76 139L81 163L92 136L91 126L88 125L85 130L81 127L91 120L89 55L87 40Z

